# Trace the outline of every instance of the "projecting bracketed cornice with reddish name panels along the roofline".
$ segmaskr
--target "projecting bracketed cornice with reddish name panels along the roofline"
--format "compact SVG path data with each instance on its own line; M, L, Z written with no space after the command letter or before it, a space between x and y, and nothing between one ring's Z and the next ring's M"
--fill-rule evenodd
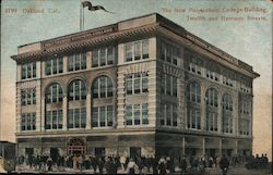
M114 24L100 28L76 33L56 39L41 41L40 50L12 55L11 58L19 63L35 60L39 61L45 59L46 57L55 54L68 54L68 52L88 49L97 45L105 45L114 41L120 41L122 39L147 35L162 35L164 37L174 38L179 43L182 43L186 48L200 50L209 53L210 55L213 55L209 57L209 59L224 64L225 66L238 73L241 73L251 78L260 76L258 73L252 71L252 66L202 40L201 38L187 32L182 27L171 28L164 22L157 22L122 30L118 30L118 25Z

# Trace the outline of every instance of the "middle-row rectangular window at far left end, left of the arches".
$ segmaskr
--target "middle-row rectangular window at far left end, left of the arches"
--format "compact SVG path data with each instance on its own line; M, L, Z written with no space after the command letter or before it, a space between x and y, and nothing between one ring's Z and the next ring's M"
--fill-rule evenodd
M36 104L36 88L21 89L21 105Z

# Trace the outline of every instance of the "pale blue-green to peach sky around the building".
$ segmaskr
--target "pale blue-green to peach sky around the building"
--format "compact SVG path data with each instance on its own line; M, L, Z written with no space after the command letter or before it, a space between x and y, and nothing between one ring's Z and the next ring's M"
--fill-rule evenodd
M80 32L80 0L2 0L0 140L15 141L17 46ZM272 157L272 2L270 0L92 0L84 29L157 12L253 66L253 153ZM39 11L43 13L29 13Z

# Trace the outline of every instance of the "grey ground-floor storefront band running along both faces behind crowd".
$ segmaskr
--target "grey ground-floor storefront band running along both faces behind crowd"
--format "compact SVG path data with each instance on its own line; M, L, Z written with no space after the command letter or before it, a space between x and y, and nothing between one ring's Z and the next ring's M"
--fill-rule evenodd
M169 133L47 135L17 138L17 155L218 157L250 155L251 139Z

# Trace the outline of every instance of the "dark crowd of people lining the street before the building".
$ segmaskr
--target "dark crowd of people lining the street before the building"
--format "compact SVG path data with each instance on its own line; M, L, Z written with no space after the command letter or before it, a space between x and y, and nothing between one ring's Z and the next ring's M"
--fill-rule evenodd
M254 161L253 161L254 160ZM188 173L204 171L206 167L222 168L223 174L228 166L240 164L257 164L256 167L265 167L268 163L266 154L261 158L252 157L95 157L95 155L27 155L19 157L17 164L27 165L34 171L64 171L73 168L75 171L93 170L99 174L117 174L118 170L127 174L173 174L175 172ZM177 168L178 167L178 168ZM226 171L226 172L225 172Z

